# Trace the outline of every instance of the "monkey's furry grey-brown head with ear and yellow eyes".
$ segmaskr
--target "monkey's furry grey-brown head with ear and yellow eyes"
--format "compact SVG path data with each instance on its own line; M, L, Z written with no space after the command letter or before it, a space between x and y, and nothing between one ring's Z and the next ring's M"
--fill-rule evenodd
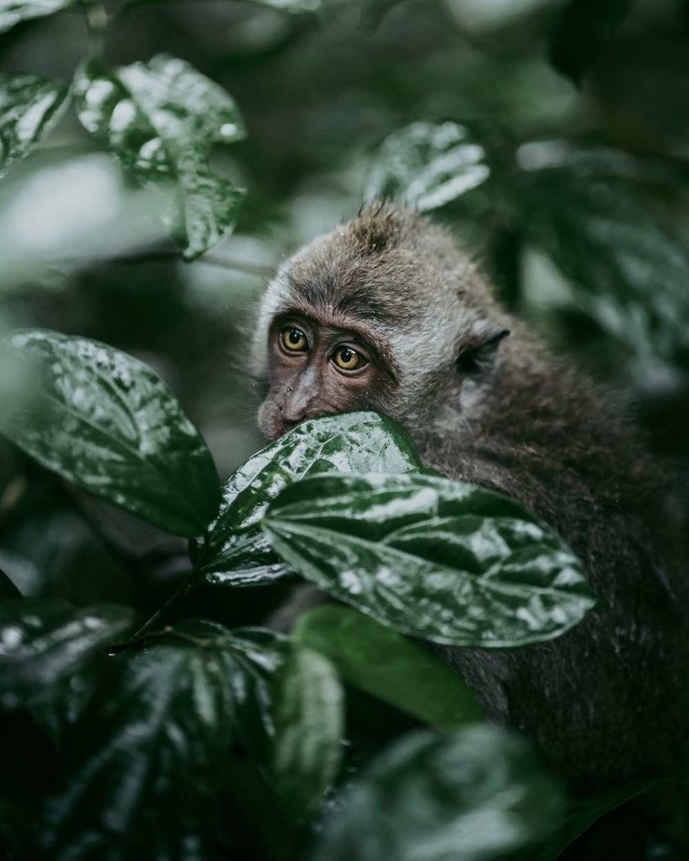
M413 430L475 411L505 323L447 233L370 205L298 251L264 294L253 341L261 430L275 439L307 418L360 409Z

